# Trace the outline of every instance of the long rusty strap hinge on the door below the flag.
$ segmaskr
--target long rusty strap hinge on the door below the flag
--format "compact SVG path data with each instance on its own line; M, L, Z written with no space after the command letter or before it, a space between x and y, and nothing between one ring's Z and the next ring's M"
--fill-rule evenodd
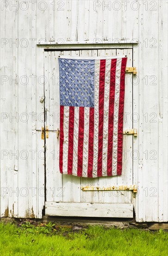
M81 187L82 191L108 191L108 190L133 190L134 193L137 193L136 185L121 185L121 186L83 186Z

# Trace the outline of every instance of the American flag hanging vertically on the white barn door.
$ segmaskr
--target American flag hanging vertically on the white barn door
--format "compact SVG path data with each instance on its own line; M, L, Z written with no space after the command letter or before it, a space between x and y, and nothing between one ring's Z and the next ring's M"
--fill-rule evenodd
M126 61L59 58L62 174L121 175Z

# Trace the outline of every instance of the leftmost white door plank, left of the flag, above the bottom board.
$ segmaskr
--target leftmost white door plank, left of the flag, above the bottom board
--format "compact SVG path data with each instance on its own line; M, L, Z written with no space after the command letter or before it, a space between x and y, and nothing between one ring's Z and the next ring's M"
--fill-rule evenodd
M59 114L59 64L61 52L44 52L44 85L46 126L49 138L46 139L46 201L62 202L62 174L59 171L59 138L56 129L60 129Z

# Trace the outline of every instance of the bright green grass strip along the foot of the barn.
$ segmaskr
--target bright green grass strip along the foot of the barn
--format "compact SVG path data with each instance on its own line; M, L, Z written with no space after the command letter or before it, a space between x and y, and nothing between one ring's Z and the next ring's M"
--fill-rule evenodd
M167 256L168 233L93 226L74 232L49 223L0 223L0 256Z

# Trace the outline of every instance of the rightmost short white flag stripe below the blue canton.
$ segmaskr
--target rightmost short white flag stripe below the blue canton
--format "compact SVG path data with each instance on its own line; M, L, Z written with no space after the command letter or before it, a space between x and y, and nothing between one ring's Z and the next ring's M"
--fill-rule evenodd
M94 109L94 108L93 108ZM89 135L89 113L90 108L84 108L84 138L83 141L83 166L82 166L82 177L87 177L87 165L88 165L88 135Z

